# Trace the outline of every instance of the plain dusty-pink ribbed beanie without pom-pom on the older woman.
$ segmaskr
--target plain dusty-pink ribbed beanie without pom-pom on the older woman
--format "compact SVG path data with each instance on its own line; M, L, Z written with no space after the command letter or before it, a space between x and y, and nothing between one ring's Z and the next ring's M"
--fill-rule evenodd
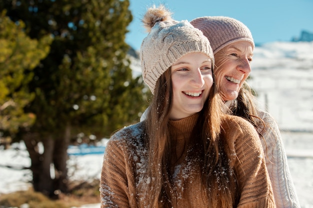
M203 16L190 21L200 29L211 43L215 54L223 47L237 41L248 41L254 49L250 30L241 21L226 16Z

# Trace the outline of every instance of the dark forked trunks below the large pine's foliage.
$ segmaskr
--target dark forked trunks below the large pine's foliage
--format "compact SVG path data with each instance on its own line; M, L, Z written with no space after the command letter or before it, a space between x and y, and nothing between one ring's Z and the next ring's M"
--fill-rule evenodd
M57 139L48 136L42 140L38 134L28 133L23 140L31 160L30 170L34 191L51 199L57 199L60 192L68 193L66 162L70 141L70 125L66 125L64 136ZM39 150L39 141L42 141L42 153ZM54 165L54 179L50 174L51 164Z

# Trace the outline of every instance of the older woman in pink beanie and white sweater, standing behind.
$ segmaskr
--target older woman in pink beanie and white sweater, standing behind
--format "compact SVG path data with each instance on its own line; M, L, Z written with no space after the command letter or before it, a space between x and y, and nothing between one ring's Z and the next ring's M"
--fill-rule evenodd
M278 126L268 113L257 109L245 82L254 49L250 30L225 16L199 17L190 23L211 43L216 84L230 113L245 118L259 134L277 208L300 208Z

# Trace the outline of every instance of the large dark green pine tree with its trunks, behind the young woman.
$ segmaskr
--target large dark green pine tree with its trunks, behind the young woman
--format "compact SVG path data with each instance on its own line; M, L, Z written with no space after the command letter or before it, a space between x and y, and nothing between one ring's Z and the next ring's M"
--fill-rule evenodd
M124 42L132 20L129 1L6 0L0 6L13 21L25 22L31 38L53 36L28 85L34 99L24 109L35 114L35 123L19 131L31 158L34 190L53 197L68 191L71 139L109 136L142 110L142 79L132 78ZM36 151L38 143L43 153Z

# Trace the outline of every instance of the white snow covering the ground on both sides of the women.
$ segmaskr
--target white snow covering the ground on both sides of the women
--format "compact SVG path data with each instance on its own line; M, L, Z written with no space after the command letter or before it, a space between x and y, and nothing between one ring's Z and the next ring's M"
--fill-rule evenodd
M134 63L138 66L138 63ZM140 68L133 68L140 73ZM257 91L259 107L267 110L281 128L288 165L301 208L313 208L313 42L273 42L256 47L248 83ZM265 107L266 106L266 107ZM105 143L105 141L102 141ZM1 165L29 166L26 151L0 150L0 194L24 190L28 170ZM100 177L102 154L70 156L71 180ZM74 169L75 167L75 169ZM82 208L99 208L99 204Z

